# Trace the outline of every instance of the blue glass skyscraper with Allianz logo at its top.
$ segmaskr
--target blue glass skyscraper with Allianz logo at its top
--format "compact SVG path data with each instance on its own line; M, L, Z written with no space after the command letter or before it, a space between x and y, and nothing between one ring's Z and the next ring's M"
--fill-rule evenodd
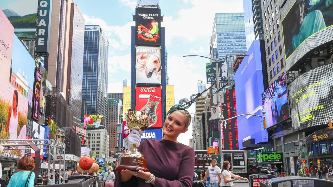
M84 114L103 115L107 121L109 42L99 25L86 25L82 74L82 110Z

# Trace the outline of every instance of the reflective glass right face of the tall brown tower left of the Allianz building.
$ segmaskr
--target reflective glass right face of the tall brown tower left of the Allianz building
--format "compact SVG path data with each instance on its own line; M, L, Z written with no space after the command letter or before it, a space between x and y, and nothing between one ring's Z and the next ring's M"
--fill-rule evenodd
M81 123L84 18L77 5L71 4L66 101L73 110L73 125Z

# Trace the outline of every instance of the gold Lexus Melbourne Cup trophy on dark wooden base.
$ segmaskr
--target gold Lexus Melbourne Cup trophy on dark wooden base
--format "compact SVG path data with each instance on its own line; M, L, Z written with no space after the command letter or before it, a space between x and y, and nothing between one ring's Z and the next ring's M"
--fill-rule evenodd
M132 130L136 129L144 131L155 125L156 122L156 115L150 115L147 112L139 110L127 110L127 126ZM116 171L129 169L133 171L142 170L144 172L149 172L146 164L147 160L145 159L145 156L138 151L137 146L134 144L133 149L122 156L119 166L116 167Z

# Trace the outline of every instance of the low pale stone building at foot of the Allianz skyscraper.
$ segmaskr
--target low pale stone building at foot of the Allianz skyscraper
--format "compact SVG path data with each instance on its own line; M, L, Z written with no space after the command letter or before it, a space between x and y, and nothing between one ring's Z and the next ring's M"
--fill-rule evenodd
M110 136L107 129L87 130L88 147L92 151L96 151L96 158L102 158L103 155L109 155ZM96 159L94 158L94 159Z

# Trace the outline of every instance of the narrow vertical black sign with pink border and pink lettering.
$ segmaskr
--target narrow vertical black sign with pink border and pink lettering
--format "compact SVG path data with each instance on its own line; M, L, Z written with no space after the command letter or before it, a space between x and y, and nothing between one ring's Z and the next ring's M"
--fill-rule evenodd
M41 97L41 81L42 74L36 69L35 74L35 88L33 90L33 103L32 103L32 118L39 120L39 107L40 107L40 97Z

